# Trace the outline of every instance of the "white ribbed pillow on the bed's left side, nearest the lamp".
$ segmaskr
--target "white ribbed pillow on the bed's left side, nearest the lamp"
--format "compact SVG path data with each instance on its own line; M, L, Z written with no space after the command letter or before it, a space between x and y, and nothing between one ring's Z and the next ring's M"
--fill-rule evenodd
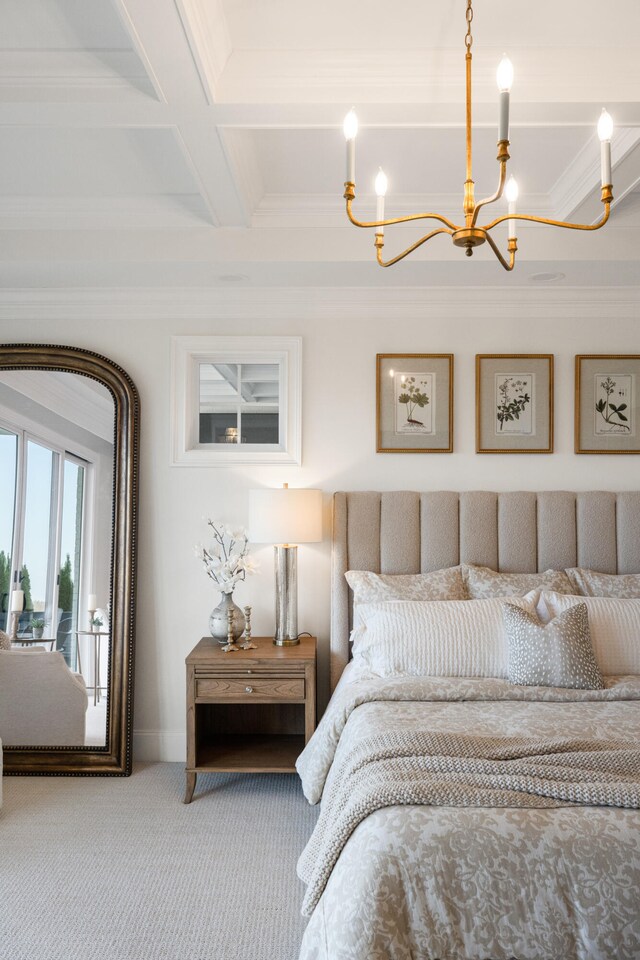
M510 602L535 612L529 598ZM506 677L502 607L500 599L362 604L354 657L382 677Z

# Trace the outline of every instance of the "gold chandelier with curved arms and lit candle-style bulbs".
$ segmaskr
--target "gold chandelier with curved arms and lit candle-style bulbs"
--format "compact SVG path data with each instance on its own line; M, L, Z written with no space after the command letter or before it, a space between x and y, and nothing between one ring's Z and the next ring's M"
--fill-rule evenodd
M394 217L386 219L384 217L384 198L387 192L387 178L382 170L379 171L375 181L375 191L377 195L376 219L369 222L356 220L353 216L352 206L356 196L355 185L355 140L358 132L358 119L353 110L350 110L344 120L344 135L347 141L347 179L344 187L344 198L347 201L347 216L351 223L356 227L374 228L376 257L381 267L390 267L399 260L403 260L408 254L413 253L418 247L431 240L439 233L448 234L457 247L464 247L468 257L472 256L473 248L479 247L485 241L489 244L496 257L505 268L513 270L518 242L516 238L516 220L528 220L532 223L545 223L551 227L566 227L569 230L599 230L600 227L609 219L611 203L613 201L613 185L611 182L611 135L613 133L613 121L607 111L603 108L598 121L598 136L600 138L600 156L601 156L601 200L604 204L604 213L597 223L582 224L568 223L564 220L549 220L546 217L534 217L530 214L516 213L516 200L518 198L518 186L513 177L507 179L507 161L509 160L509 92L513 81L513 67L511 61L505 56L500 62L497 70L498 89L500 91L500 120L498 127L498 156L500 164L498 176L498 189L490 197L476 202L474 196L474 182L471 175L471 45L473 37L471 36L471 21L473 20L472 0L467 0L466 21L467 32L465 35L465 61L466 61L466 129L467 129L467 179L464 184L464 203L463 211L464 225L458 225L443 217L438 213L415 213L407 217ZM506 187L505 187L506 183ZM509 203L508 213L502 217L496 217L485 226L478 225L478 214L480 209L489 203L495 203L503 193ZM412 243L410 247L393 257L392 260L382 259L382 248L384 247L384 228L394 223L410 223L413 220L437 220L443 226L427 233L420 240ZM489 233L499 223L505 220L509 221L508 238L508 260L503 257L498 246Z

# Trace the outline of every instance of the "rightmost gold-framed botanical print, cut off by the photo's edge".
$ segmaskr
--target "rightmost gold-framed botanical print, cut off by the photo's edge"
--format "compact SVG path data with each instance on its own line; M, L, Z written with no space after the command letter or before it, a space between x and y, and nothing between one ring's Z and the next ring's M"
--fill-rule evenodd
M576 453L640 453L640 356L576 357Z

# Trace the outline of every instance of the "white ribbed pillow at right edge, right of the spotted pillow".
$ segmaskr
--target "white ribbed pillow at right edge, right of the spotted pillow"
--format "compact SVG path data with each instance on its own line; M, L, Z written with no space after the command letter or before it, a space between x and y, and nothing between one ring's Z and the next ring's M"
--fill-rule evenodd
M640 674L640 600L617 597L580 597L586 604L593 650L605 676ZM543 590L538 614L557 617L576 603L576 597Z

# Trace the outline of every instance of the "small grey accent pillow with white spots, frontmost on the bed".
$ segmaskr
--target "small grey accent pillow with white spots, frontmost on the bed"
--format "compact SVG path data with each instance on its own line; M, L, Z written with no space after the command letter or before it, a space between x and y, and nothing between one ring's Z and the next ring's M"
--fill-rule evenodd
M584 603L542 624L535 614L503 605L509 643L509 680L527 686L602 690Z

